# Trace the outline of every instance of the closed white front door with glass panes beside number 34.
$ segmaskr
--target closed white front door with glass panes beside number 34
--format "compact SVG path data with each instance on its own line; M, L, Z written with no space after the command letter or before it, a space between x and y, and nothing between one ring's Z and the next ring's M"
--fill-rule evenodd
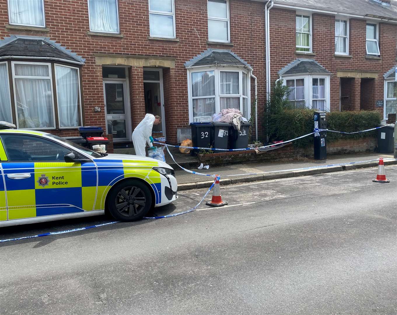
M125 120L127 105L126 82L104 81L103 90L107 133L113 134L115 142L130 140L129 122Z

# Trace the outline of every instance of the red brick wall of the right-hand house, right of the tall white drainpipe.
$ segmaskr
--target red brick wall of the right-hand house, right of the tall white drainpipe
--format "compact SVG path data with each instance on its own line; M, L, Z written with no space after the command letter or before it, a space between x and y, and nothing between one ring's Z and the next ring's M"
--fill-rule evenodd
M349 54L351 57L337 57L335 54L335 17L314 13L312 15L312 50L314 55L302 55L295 52L295 14L293 10L272 8L270 11L270 54L272 85L278 78L278 71L297 58L318 61L332 73L330 79L330 109L339 110L339 83L337 70L376 71L377 79L372 86L370 102L364 104L366 109L376 109L383 113L383 108L376 108L375 101L383 99L383 74L396 63L397 26L379 23L380 59L366 58L366 21L350 19ZM344 79L346 80L346 79ZM348 86L342 95L351 95L348 109L360 109L360 78L345 81ZM342 86L343 88L343 86Z

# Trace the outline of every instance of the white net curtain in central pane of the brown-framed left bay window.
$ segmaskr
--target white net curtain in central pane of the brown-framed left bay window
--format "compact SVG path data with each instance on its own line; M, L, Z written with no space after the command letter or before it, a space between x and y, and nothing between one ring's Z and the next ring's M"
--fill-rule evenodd
M48 77L48 66L16 64L15 75ZM50 79L15 78L19 128L54 127Z

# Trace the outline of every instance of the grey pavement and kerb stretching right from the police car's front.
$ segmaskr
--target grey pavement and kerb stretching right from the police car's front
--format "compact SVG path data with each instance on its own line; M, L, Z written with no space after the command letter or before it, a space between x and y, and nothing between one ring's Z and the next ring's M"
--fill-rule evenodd
M264 161L261 163L240 163L231 164L225 166L211 167L208 170L198 170L198 162L196 167L190 168L192 171L206 173L209 175L217 174L221 175L221 185L234 184L238 182L252 182L252 181L263 181L263 180L274 180L286 177L297 177L304 175L315 175L321 173L330 173L337 171L345 171L349 169L356 169L362 167L377 167L379 158L385 159L385 165L397 164L397 161L393 158L393 154L385 153L363 153L363 154L344 154L344 155L331 155L326 160L313 160L307 158L301 158L299 160L277 160L277 161ZM333 166L325 167L325 165L351 163L354 164L347 166ZM360 162L360 163L358 163ZM213 180L207 176L192 175L183 171L177 165L173 166L175 169L175 175L178 182L178 190L209 187ZM315 167L314 169L302 169ZM292 171L294 170L294 171ZM249 173L257 173L254 175L245 175ZM262 174L258 174L262 173ZM238 175L239 176L234 176ZM233 176L231 176L233 175ZM387 175L387 174L386 174ZM376 177L376 171L374 172Z

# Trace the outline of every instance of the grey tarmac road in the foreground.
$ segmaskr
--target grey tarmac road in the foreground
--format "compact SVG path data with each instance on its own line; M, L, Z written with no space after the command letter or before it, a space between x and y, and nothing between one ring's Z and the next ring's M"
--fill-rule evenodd
M227 207L2 243L0 314L396 314L397 166L385 170L389 184L369 168L223 186Z

